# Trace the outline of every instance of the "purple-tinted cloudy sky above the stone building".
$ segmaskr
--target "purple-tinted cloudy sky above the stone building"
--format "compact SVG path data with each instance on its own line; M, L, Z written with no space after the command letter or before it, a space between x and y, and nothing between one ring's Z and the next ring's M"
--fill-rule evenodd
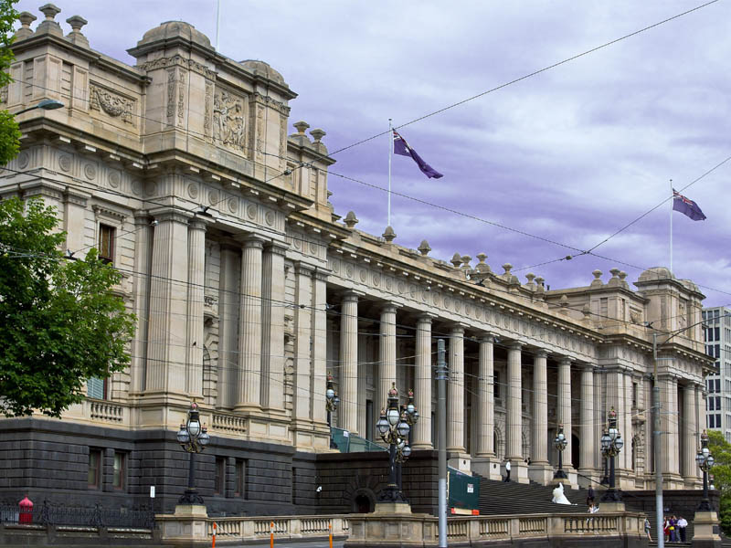
M650 26L702 0L523 0L521 2L221 1L219 50L260 58L300 97L291 121L323 128L335 151L539 68ZM19 11L37 12L21 0ZM90 46L133 63L126 49L171 19L216 41L216 1L58 0L57 20L89 20ZM716 2L638 36L418 121L401 134L435 169L427 179L402 156L393 189L524 233L588 249L692 183L731 155L731 4ZM62 23L65 31L69 26ZM294 130L292 129L292 132ZM726 135L726 137L724 137ZM387 186L387 137L335 154L333 172ZM673 270L694 279L706 306L731 304L729 264L731 161L683 194L705 221L673 217ZM386 194L331 175L339 215L354 210L359 228L380 235ZM488 254L521 279L528 271L552 289L588 285L617 267L669 265L666 203L595 250L561 246L394 196L397 243L432 256ZM522 270L520 270L522 269Z

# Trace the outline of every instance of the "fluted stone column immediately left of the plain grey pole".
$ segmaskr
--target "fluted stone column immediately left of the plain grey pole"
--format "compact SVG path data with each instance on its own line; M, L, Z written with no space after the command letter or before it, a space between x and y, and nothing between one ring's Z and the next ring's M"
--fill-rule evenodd
M418 410L418 422L414 430L415 449L431 449L431 319L422 314L417 319L416 383L414 398ZM375 424L375 423L374 423Z

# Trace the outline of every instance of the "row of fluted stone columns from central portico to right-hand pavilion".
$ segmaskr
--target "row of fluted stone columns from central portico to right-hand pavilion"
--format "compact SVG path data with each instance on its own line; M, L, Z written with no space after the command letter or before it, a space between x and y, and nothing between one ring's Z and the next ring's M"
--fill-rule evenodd
M354 291L344 293L343 315L340 320L340 363L343 379L340 381L340 396L344 401L344 411L338 420L338 426L361 436L365 432L357 430L358 412L363 413L364 402L359 402L358 386L353 379L358 377L357 364L357 321L358 301L362 294ZM380 308L380 328L378 337L378 362L375 364L374 412L385 406L387 389L397 381L397 305L385 303ZM435 395L432 394L431 379L436 366L436 357L432 347L432 324L437 318L432 314L421 314L416 318L415 354L414 354L414 392L420 419L414 429L411 445L415 449L430 449L435 445L432 441L431 410ZM445 322L446 323L446 322ZM448 402L447 402L447 450L460 458L498 462L498 448L495 447L495 337L491 333L470 330L470 326L452 323L449 328L447 363L449 367ZM444 331L444 325L441 326ZM472 332L476 332L474 336ZM477 378L471 390L471 439L470 454L465 428L466 391L465 383L465 340L474 340L478 345L478 364L475 368ZM620 477L631 482L635 473L632 441L637 437L644 444L645 467L641 470L642 479L652 480L652 429L649 427L652 404L643 402L643 414L639 412L637 392L639 385L644 386L641 374L620 367L579 362L568 355L552 354L556 363L556 406L555 415L549 421L548 397L548 359L549 353L544 348L526 346L524 342L506 341L506 379L502 388L504 395L504 455L501 459L509 459L515 467L526 469L525 459L530 458L530 471L537 480L546 481L552 474L551 451L554 451L552 436L554 428L562 424L567 433L565 449L565 467L573 469L571 464L572 445L576 437L580 440L578 451L579 475L597 479L602 471L603 460L600 455L599 438L606 422L606 414L614 407L619 414L619 426L625 438L625 450L620 453L617 468ZM532 356L532 367L524 363L524 354ZM530 359L530 358L528 358ZM524 386L524 372L532 373L532 385ZM553 371L553 368L552 368ZM572 381L573 378L573 381ZM695 466L694 438L703 429L703 387L701 385L683 385L683 421L680 431L678 424L678 379L661 378L663 394L663 430L668 434L662 437L663 470L676 483L688 484L697 482L698 470ZM553 383L553 381L552 381ZM573 383L573 384L572 384ZM399 386L402 391L411 386ZM532 392L531 406L523 406L524 389ZM554 410L554 407L551 407ZM638 418L642 420L637 421ZM577 424L573 421L577 419ZM361 425L365 424L361 422ZM374 421L375 424L375 421ZM529 455L524 453L524 430L530 432ZM684 441L680 441L680 434ZM572 436L573 435L573 436ZM520 472L525 480L527 469Z

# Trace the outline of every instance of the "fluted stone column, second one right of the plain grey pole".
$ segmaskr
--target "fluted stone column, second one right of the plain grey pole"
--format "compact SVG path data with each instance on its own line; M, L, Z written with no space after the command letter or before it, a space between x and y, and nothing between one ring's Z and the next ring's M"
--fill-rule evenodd
M494 338L493 335L483 335L480 338L480 363L477 376L477 405L473 409L475 416L475 431L477 439L473 455L475 457L495 456L494 433Z

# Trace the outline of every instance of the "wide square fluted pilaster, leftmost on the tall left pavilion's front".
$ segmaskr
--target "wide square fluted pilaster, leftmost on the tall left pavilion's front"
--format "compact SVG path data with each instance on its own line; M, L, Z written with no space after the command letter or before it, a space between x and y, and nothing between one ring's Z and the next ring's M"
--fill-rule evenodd
M155 214L146 394L179 395L188 402L185 385L187 332L188 216L175 211Z

